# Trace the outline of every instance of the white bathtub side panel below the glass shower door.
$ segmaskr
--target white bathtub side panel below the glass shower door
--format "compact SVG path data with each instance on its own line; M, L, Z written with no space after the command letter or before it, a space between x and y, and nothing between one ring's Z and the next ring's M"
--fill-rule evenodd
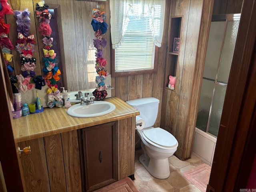
M196 128L192 153L206 164L212 166L216 140L217 138L214 136Z

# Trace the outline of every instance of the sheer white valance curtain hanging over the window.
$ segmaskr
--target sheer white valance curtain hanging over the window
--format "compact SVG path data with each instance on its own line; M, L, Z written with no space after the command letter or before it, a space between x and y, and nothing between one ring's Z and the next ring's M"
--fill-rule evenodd
M148 18L154 44L161 46L164 30L165 0L110 0L112 48L122 43L130 17Z

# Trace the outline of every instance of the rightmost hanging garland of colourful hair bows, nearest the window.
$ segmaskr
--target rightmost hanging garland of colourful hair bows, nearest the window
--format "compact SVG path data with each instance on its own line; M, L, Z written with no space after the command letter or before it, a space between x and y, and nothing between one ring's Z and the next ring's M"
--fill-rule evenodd
M107 32L108 24L104 22L106 19L106 13L102 12L100 13L100 10L93 9L92 10L92 28L94 30L95 39L93 40L94 47L97 49L95 56L96 56L96 72L98 73L98 76L96 76L96 83L98 85L97 89L92 92L93 96L97 100L104 99L107 94L107 86L104 83L105 77L108 76L108 71L104 69L104 67L107 64L106 59L102 57L104 47L107 45L107 40L104 38L104 34Z

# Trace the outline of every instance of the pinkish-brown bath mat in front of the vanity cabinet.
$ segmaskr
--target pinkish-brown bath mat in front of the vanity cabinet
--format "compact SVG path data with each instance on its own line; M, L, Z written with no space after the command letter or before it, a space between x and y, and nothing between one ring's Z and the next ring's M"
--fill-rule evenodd
M116 181L94 192L140 192L129 177Z

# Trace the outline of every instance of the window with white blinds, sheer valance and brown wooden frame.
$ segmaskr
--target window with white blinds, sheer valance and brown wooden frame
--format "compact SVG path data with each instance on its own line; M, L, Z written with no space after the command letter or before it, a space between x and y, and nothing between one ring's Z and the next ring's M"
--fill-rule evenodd
M157 72L155 58L158 57L157 46L160 46L162 41L164 6L157 4L157 0L154 4L148 3L149 1L141 4L122 4L120 1L115 3L115 0L111 2L111 75L128 76ZM117 13L118 6L124 6L121 9L124 10L123 13Z

